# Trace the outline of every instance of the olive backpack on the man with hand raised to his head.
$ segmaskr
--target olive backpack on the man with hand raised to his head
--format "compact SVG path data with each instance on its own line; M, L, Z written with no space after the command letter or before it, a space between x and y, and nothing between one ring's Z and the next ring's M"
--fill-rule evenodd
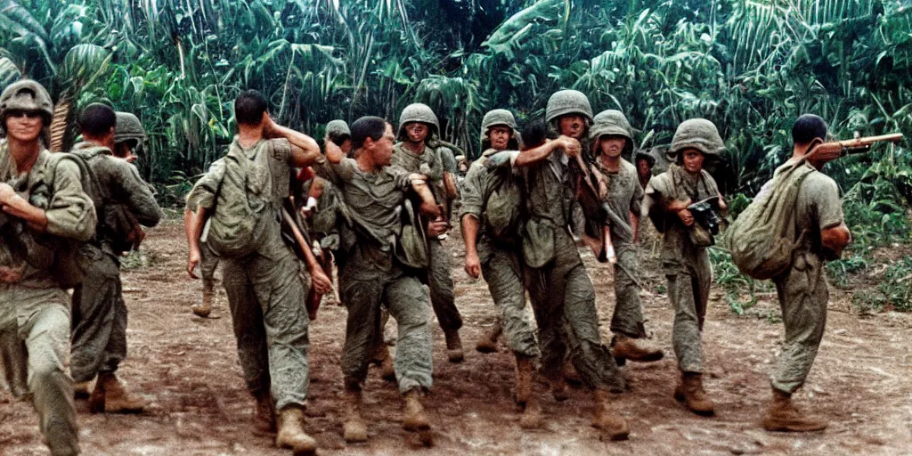
M260 140L254 144L251 160L235 139L223 157L222 180L206 233L206 244L214 254L240 258L263 246L267 223L275 220L268 163L273 147L271 141Z

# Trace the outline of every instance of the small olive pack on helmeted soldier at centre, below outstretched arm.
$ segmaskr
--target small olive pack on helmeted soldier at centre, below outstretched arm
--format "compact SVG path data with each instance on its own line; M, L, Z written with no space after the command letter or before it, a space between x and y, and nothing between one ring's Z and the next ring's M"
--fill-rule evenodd
M482 219L493 240L515 244L521 239L525 198L523 181L513 173L510 156L509 151L503 151L482 158L488 171Z

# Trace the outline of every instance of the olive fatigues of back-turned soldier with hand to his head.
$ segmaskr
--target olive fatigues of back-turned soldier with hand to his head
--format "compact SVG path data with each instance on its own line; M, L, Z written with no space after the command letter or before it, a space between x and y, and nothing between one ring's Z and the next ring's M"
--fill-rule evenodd
M309 281L302 277L300 262L282 240L277 219L281 201L288 195L291 144L287 140L261 140L243 152L268 171L262 192L272 196L275 206L270 211L276 218L265 223L263 242L254 254L221 258L238 358L247 389L254 396L271 392L278 410L289 405L303 407L309 382L309 318L305 308ZM223 174L223 165L216 161L196 182L187 196L191 211L199 207L211 211L216 204L245 198L225 194L226 186L220 189Z

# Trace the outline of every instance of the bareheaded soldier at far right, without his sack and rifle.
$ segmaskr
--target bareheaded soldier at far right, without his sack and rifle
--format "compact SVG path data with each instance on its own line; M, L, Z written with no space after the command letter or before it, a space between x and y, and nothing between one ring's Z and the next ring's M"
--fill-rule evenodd
M805 114L792 127L794 164L815 145L826 140L824 119ZM763 417L766 430L806 432L823 430L826 421L804 414L792 403L792 394L804 384L824 337L826 303L829 299L824 260L839 258L852 239L843 220L839 189L820 170L833 156L814 154L809 160L816 171L801 182L795 203L795 233L803 243L793 254L793 264L772 281L776 285L785 325L782 355L772 375L772 403Z

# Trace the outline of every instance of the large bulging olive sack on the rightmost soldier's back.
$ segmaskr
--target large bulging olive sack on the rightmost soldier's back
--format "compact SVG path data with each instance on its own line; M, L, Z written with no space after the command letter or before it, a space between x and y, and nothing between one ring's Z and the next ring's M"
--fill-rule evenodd
M775 171L754 201L741 212L726 234L731 259L759 280L782 275L805 233L795 233L795 211L802 182L814 168L806 161L786 163ZM769 187L767 187L769 186Z

